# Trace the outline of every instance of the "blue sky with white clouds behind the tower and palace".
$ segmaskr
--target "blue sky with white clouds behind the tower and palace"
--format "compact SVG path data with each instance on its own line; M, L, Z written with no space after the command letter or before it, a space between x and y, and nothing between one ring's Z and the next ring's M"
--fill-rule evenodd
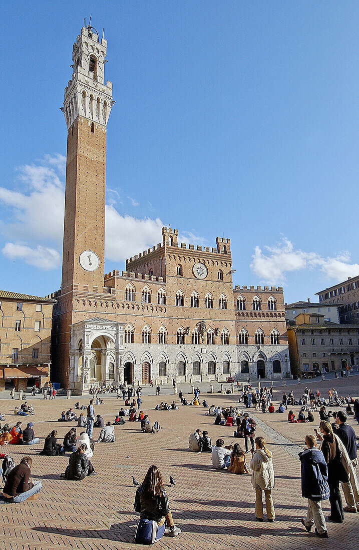
M2 2L0 288L61 282L66 125L83 18L105 28L106 265L232 240L235 284L285 300L359 274L357 2Z

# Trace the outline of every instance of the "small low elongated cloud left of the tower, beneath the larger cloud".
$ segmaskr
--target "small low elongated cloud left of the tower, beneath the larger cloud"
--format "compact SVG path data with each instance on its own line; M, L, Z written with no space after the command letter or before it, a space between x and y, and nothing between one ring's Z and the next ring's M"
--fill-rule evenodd
M23 260L30 266L41 270L53 270L60 265L61 258L57 250L37 245L35 248L16 243L6 243L2 249L4 256L10 260Z

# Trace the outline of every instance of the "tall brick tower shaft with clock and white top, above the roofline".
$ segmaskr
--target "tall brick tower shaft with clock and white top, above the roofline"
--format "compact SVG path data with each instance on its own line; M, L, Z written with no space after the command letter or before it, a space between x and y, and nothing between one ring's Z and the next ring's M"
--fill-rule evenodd
M72 292L73 284L90 292L102 292L104 285L106 125L113 105L112 83L104 84L106 46L93 27L81 29L64 93L68 134L62 295Z

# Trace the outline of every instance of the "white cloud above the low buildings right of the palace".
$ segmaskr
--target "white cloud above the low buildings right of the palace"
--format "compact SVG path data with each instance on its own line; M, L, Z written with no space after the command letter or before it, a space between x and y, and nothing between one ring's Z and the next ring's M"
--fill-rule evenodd
M265 254L259 246L255 247L251 263L252 271L264 283L281 283L286 280L286 273L306 269L319 269L326 278L337 282L359 274L359 265L350 263L349 252L324 258L317 252L296 250L291 241L285 238L276 246L264 248Z

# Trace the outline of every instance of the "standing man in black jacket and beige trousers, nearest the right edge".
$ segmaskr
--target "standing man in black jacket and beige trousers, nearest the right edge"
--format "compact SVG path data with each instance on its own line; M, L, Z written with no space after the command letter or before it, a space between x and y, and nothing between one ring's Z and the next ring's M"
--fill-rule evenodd
M356 456L356 437L353 428L346 423L347 418L348 417L344 411L338 411L335 419L335 435L338 436L344 444L352 466L350 467L349 464L349 468L347 471L349 475L349 481L341 484L346 502L346 507L344 508L344 511L356 513L357 511L359 511L359 489L355 471L358 465L358 459Z

